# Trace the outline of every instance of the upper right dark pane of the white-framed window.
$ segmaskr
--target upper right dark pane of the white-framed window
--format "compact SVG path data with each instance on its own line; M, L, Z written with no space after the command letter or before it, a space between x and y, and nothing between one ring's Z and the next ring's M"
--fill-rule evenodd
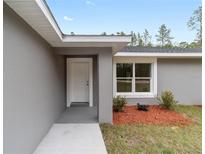
M135 64L135 77L150 77L151 64Z

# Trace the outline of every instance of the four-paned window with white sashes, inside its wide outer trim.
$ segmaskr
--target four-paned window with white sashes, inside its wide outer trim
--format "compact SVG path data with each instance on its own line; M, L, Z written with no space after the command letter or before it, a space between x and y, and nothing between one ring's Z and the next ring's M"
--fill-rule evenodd
M154 62L116 62L116 94L127 96L154 95Z

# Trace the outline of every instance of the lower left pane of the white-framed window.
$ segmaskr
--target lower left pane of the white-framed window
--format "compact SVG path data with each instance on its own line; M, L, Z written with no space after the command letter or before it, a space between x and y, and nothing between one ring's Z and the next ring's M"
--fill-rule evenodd
M117 79L117 92L131 92L132 79Z

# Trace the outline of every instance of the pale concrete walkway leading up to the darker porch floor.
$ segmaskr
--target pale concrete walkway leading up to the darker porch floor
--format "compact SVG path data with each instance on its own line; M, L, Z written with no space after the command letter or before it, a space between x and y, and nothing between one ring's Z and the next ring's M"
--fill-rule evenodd
M34 154L107 154L99 124L54 124Z

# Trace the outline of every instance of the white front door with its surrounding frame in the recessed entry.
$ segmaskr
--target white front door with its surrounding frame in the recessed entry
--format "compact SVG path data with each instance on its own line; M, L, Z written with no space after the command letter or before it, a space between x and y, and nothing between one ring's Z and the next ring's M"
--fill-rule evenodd
M92 58L67 59L67 106L75 102L92 106Z

